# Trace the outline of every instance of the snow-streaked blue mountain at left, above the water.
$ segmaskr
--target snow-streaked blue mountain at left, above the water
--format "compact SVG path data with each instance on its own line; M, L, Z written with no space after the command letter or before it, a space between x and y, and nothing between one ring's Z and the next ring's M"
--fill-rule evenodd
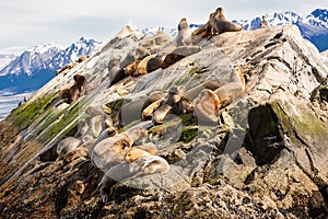
M99 42L81 37L68 47L35 46L0 69L0 90L13 93L37 90L56 76L56 70L82 55L91 55L99 45Z

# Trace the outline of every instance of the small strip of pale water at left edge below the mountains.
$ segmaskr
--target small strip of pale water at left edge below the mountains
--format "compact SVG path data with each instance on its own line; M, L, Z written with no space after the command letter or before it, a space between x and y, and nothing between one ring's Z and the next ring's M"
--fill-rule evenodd
M32 94L32 92L20 94L0 92L0 120L4 119L12 110L16 108L20 103L23 103Z

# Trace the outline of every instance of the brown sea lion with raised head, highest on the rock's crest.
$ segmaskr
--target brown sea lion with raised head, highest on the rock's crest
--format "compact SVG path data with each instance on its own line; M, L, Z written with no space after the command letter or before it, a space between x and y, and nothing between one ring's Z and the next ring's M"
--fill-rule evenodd
M215 16L210 20L210 24L214 28L216 34L222 34L224 32L238 32L243 30L243 26L227 21L223 12L223 8L218 8Z

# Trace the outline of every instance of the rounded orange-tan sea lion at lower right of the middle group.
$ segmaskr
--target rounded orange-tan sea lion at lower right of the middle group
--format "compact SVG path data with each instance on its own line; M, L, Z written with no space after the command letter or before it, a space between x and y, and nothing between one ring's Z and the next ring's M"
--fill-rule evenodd
M218 125L221 101L213 91L202 90L195 100L194 105L194 116L197 117L199 125Z

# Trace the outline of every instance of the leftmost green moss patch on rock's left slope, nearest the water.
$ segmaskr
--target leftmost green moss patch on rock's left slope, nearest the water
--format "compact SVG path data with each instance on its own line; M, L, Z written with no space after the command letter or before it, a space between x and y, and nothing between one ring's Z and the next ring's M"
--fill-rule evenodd
M13 122L13 125L17 126L20 130L23 130L30 126L38 115L44 113L57 97L58 94L49 94L34 102L26 102L12 112L10 119Z

